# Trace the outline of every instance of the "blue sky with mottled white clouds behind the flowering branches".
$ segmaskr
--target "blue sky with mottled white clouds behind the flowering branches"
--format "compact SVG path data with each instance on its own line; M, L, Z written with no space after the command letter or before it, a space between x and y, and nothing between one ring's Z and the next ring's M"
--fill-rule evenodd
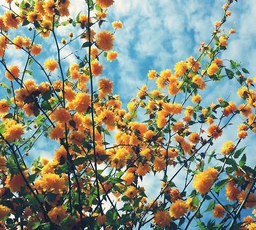
M4 0L0 0L4 4ZM123 107L126 103L135 96L137 88L142 84L146 84L147 73L151 69L156 69L158 72L165 69L173 69L176 62L185 60L190 55L197 57L199 52L199 42L208 42L211 40L213 31L213 23L220 21L223 15L222 5L223 0L116 0L115 4L108 9L108 22L121 20L124 24L122 30L115 33L114 51L118 53L118 59L112 63L105 59L100 61L104 64L103 75L114 81L114 93L120 94L123 101ZM86 4L83 0L72 1L70 13L73 17L78 11L86 13ZM233 3L230 11L232 16L228 18L224 25L225 30L231 27L235 28L236 34L231 36L228 41L227 51L221 54L222 59L232 59L241 61L243 67L249 70L250 77L256 75L255 53L256 53L256 1L254 0L238 0L238 3ZM3 8L0 7L0 12ZM103 29L112 30L111 23L104 23ZM14 37L17 34L22 34L25 31L29 33L27 28L14 31L10 36ZM67 34L74 31L72 26L61 27L57 30L59 42L62 37L67 39ZM76 34L80 31L76 30ZM31 33L31 32L30 32ZM54 52L54 44L52 37L42 41L40 38L36 43L43 45L43 53L38 56L38 60L43 63L45 59L52 57L56 59L57 53ZM72 46L67 46L62 52L62 57L70 52L79 49L81 41L77 41ZM84 54L85 50L81 52ZM10 65L15 63L19 66L24 66L24 55L22 52L17 52L13 48L10 49L6 57L7 63ZM74 55L69 56L63 61L65 69L72 62L76 62ZM43 74L40 70L33 66L35 81L43 81ZM66 72L65 70L65 72ZM100 78L102 78L100 76ZM26 76L30 77L30 76ZM53 75L53 79L58 79L57 73ZM98 79L98 78L97 78ZM44 79L45 80L45 79ZM4 70L0 66L0 81L7 82L4 78ZM155 88L152 82L148 82L149 89ZM221 86L222 85L222 86ZM230 100L237 103L241 102L236 96L236 90L239 87L235 81L224 81L221 84L215 83L202 93L203 102L207 106L216 98L226 98L230 95ZM4 95L5 91L0 89L0 94ZM141 118L143 119L143 117ZM241 117L237 117L233 124L225 131L221 140L216 141L216 146L221 146L225 140L236 139L236 127L241 123ZM252 133L251 133L252 134ZM242 146L246 146L255 137L245 139ZM50 147L49 147L50 146ZM56 142L41 138L34 148L31 150L31 156L52 156L54 149L58 148ZM217 150L220 148L217 147ZM248 154L248 162L250 166L256 163L255 151L253 147L246 149ZM183 175L184 176L184 175ZM161 174L157 175L160 179ZM177 186L181 177L177 178ZM159 181L153 180L149 175L144 187L150 191L150 197L156 196L159 192L152 188L152 183L159 184Z

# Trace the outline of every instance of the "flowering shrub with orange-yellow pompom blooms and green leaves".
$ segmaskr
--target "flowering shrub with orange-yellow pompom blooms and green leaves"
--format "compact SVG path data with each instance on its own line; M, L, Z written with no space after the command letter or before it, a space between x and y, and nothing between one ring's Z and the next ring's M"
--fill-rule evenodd
M100 76L103 59L118 59L114 34L125 30L121 21L112 22L112 31L100 29L113 0L87 0L76 18L69 15L70 0L6 2L0 16L7 92L0 100L2 229L255 229L252 216L240 220L256 206L255 168L246 165L240 145L256 132L256 93L241 63L220 59L235 33L222 30L233 1L223 5L198 57L173 70L149 70L156 89L142 85L127 109L113 82ZM65 26L70 32L60 37ZM48 47L40 41L47 37L57 59L41 63ZM75 42L80 49L64 54ZM24 66L8 63L11 47L23 53ZM78 62L66 66L70 55ZM243 102L213 98L205 105L200 92L224 78L237 83ZM211 151L238 116L237 139ZM30 150L43 136L59 149L49 146L52 158L30 165ZM176 186L182 172L184 186ZM150 183L146 175L161 177L161 188L152 184L153 200L143 187ZM212 218L205 223L204 216Z

